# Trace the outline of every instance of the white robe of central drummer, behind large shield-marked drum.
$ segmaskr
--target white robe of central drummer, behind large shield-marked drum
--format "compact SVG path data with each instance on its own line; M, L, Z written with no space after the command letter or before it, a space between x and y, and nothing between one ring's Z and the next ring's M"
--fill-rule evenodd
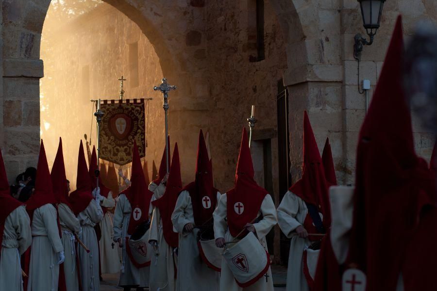
M233 241L234 237L231 235L229 230L227 231L227 196L223 194L220 196L220 200L218 201L218 207L214 211L214 235L216 239L224 238L226 242ZM261 203L261 209L258 212L259 215L263 215L263 219L258 223L253 224L255 226L256 236L258 237L261 245L264 247L266 251L267 242L266 235L269 233L270 229L276 225L276 210L275 204L271 199L269 194L264 197L263 202ZM273 291L273 279L271 276L271 268L267 272L267 282L266 278L263 276L258 281L256 281L253 285L247 288L241 288L235 282L234 275L228 267L226 260L222 260L221 262L221 276L220 276L220 291Z

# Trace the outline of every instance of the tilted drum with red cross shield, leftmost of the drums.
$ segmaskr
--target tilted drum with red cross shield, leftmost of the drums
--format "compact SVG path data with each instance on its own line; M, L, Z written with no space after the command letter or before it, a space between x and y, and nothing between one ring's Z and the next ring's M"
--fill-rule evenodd
M150 266L153 247L149 244L150 223L135 228L134 234L126 237L126 253L137 268Z

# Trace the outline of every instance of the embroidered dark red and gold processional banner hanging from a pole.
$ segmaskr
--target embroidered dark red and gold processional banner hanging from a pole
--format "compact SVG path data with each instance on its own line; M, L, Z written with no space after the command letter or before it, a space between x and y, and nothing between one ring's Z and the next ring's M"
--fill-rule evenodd
M134 140L146 153L144 99L101 100L100 158L118 165L132 162Z

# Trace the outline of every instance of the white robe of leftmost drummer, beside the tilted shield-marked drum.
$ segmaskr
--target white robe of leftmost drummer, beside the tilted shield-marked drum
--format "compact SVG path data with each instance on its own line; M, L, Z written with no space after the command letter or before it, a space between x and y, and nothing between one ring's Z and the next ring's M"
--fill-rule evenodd
M121 238L123 243L122 248L122 262L120 278L118 280L118 286L120 287L143 287L149 286L149 272L150 267L144 267L138 269L131 262L131 259L126 253L126 236L127 229L129 227L129 221L131 219L132 207L125 194L118 196L116 210L114 214L114 242L117 242ZM117 243L118 247L118 243Z

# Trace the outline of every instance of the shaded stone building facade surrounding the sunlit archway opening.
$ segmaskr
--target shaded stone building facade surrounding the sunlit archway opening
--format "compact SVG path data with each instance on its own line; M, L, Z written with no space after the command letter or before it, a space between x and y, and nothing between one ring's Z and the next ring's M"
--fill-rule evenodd
M230 186L240 127L251 103L258 105L257 112L262 114L258 115L257 129L270 130L274 143L276 127L270 115L275 111L271 102L274 81L283 75L290 93L293 180L301 172L302 116L306 109L320 150L325 138L331 139L339 182L353 183L356 139L365 108L364 96L357 91L357 63L352 55L354 34L365 33L356 0L266 0L266 57L270 60L256 63L248 60L253 48L249 41L253 28L249 0L105 2L138 25L154 47L163 75L179 86L171 93L169 118L172 140L184 141L180 150L185 181L193 177L192 148L198 129L203 128L211 133L218 187L223 191ZM34 163L37 153L39 114L34 105L39 102L38 79L43 68L39 40L49 3L2 2L1 107L7 110L2 111L0 146L8 173ZM408 36L418 20L435 21L436 9L434 0L386 1L381 29L374 44L365 47L362 54L360 79L371 81L370 97L396 16L403 14ZM416 121L414 127L418 152L428 159L434 140ZM20 138L12 138L15 136Z

